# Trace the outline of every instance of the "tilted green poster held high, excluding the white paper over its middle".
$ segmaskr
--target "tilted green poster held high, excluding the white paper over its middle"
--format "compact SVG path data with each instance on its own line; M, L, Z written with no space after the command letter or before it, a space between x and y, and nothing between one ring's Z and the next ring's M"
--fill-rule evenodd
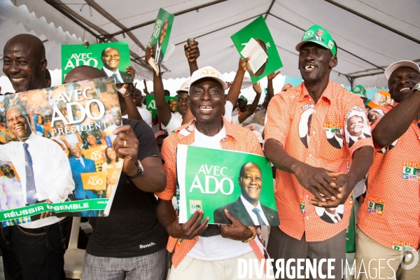
M230 38L232 38L232 41L235 44L239 54L241 54L241 51L246 48L246 44L248 44L251 38L253 38L255 41L257 41L257 43L267 55L267 59L262 64L262 66L260 66L258 71L252 71L249 64L246 63L246 69L248 70L252 83L257 83L258 80L261 80L265 76L273 73L283 66L279 52L276 48L276 43L274 43L273 37L269 32L267 24L265 23L262 15L260 15L249 25L246 25L246 27L243 29L237 31L237 33L230 36ZM243 55L241 55L241 57L245 58Z

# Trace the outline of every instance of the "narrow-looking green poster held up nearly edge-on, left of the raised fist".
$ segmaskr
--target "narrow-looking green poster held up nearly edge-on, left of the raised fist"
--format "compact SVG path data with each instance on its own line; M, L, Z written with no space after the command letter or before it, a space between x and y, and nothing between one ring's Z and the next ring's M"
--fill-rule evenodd
M172 13L168 13L166 10L160 8L158 17L156 17L155 26L153 27L153 34L147 45L147 48L150 45L152 46L152 58L159 65L162 63L162 59L167 52L174 18Z

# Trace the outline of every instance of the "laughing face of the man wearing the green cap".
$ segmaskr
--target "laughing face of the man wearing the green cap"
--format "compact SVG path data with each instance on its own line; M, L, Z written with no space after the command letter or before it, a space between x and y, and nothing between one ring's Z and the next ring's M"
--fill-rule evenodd
M317 83L330 77L330 71L337 66L337 57L317 43L302 45L299 52L299 70L307 83Z

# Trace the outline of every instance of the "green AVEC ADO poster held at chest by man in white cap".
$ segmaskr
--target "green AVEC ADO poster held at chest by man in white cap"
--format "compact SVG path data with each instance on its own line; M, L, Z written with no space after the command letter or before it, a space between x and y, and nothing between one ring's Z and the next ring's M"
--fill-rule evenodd
M224 209L244 225L279 225L271 165L251 153L179 145L179 223L197 210L210 224L231 224Z

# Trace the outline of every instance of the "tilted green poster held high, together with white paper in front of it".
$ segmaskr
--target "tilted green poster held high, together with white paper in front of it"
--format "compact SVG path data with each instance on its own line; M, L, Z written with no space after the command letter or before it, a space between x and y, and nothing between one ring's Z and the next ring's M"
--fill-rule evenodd
M252 83L257 83L283 66L276 43L262 15L230 38L242 58L251 57L246 63L246 70Z

